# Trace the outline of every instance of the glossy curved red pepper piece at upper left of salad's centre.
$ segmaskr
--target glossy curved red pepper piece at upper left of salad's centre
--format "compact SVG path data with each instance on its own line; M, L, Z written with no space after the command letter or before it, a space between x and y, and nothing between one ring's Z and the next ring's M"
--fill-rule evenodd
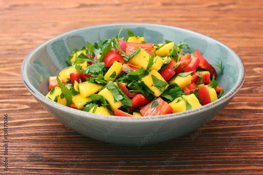
M120 51L118 50L111 50L109 51L103 58L102 62L104 62L106 67L112 66L114 61L118 61L122 64L126 63L123 59L122 55L119 54Z

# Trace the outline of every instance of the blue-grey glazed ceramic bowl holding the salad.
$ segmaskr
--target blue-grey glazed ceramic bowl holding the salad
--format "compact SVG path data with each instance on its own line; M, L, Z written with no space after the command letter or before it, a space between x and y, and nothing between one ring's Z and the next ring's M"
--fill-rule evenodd
M145 117L122 117L98 115L72 109L55 103L45 97L48 77L57 76L65 67L70 52L86 41L115 37L123 24L89 26L55 36L33 49L25 58L21 75L33 97L52 115L68 128L84 136L122 146L146 146L175 139L194 131L218 114L234 97L245 79L245 68L239 56L219 41L194 31L158 24L127 24L125 28L136 35L144 35L150 43L185 42L191 46L186 52L198 49L213 64L223 61L223 73L216 81L224 88L225 94L218 100L200 108L185 112ZM120 37L127 38L123 30ZM217 72L219 68L215 66Z

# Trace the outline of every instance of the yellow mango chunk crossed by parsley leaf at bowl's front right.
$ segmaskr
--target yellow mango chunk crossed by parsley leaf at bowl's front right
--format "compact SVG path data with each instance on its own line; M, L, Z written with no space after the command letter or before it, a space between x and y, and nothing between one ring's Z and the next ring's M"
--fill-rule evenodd
M199 100L195 97L194 94L182 95L182 97L187 100L187 102L192 106L192 109L199 108L199 107L202 106L202 105L199 103ZM181 101L179 101L178 103L176 103L178 100L181 100ZM173 108L172 113L177 113L177 112L186 111L185 101L184 101L181 97L176 98L174 101L172 101L171 103L169 103L169 105Z

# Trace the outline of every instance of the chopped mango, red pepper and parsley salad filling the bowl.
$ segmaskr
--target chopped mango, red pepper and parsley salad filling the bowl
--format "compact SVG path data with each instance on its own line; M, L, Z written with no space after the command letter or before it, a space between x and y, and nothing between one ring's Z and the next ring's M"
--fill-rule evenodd
M153 116L178 113L222 96L215 68L186 43L147 43L128 29L128 38L87 42L74 49L69 67L49 77L47 98L89 113ZM222 73L222 61L218 66Z

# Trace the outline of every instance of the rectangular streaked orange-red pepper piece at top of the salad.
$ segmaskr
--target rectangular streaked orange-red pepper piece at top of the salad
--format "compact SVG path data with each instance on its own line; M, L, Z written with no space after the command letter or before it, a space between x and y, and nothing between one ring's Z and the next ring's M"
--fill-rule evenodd
M133 51L138 49L138 47L141 47L143 50L145 50L148 54L151 54L151 50L153 48L153 43L126 43L124 52L127 55L130 55Z

